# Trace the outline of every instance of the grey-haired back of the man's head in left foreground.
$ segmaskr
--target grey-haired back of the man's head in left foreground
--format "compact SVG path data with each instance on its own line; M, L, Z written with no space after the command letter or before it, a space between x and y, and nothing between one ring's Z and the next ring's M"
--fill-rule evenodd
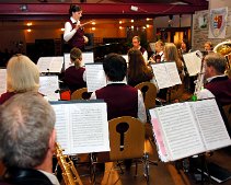
M50 149L55 112L38 93L26 92L0 106L0 160L7 167L34 169Z

